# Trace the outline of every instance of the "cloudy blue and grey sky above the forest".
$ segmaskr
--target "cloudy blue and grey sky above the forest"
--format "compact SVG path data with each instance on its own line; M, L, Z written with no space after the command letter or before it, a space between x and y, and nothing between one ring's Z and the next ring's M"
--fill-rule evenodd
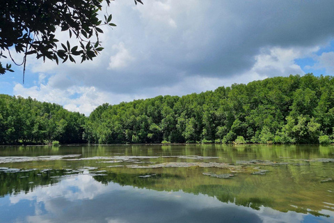
M334 75L334 1L143 2L111 2L107 10L117 26L102 27L104 50L93 61L57 66L29 56L24 84L22 66L14 66L0 76L0 93L89 115L105 102L308 72ZM68 33L57 31L56 38L65 42Z

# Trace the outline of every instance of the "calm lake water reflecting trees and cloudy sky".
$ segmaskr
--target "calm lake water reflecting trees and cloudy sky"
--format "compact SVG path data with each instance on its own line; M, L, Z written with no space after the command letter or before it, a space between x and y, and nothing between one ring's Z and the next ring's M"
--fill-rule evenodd
M3 146L0 222L334 222L334 146Z

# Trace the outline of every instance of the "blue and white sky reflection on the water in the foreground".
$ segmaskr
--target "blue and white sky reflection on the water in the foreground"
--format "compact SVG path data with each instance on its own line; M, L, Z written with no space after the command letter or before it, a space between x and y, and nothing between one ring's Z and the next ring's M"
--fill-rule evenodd
M157 192L93 176L63 177L56 185L0 199L3 222L308 222L333 218L280 213L222 203L203 194ZM22 211L23 210L23 211Z

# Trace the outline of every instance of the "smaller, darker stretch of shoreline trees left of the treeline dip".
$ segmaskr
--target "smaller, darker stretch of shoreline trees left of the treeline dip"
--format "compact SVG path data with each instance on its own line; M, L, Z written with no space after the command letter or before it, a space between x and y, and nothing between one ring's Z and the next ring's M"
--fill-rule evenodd
M0 94L0 144L84 143L85 118L61 105Z

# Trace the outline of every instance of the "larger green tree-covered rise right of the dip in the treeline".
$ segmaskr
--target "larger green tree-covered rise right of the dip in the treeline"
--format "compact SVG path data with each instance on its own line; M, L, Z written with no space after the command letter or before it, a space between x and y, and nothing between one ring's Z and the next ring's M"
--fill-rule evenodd
M308 74L104 104L90 114L84 138L97 144L329 144L333 127L334 79Z

